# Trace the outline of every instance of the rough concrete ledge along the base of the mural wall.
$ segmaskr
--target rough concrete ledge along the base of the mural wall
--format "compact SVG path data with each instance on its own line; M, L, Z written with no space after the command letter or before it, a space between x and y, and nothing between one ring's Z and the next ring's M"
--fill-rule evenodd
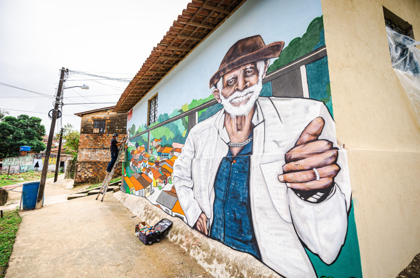
M214 277L281 277L251 255L235 251L216 240L206 237L190 228L181 219L172 217L162 209L157 208L146 198L126 194L122 191L115 192L113 197L134 215L149 223L156 217L171 220L173 225L167 234L169 240L179 244Z

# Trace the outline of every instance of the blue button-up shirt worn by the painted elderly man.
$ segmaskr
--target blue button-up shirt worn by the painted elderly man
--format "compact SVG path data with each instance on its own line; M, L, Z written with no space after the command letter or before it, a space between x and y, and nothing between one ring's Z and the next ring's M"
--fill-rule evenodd
M214 218L210 237L261 259L250 206L251 154L252 141L238 156L233 157L229 150L220 163L214 182Z

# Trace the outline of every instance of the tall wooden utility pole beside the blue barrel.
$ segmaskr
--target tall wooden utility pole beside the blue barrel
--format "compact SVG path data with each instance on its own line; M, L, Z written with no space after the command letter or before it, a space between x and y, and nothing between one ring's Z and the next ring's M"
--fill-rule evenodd
M64 74L68 70L61 68L60 82L58 84L56 101L54 104L53 119L51 120L50 135L48 136L47 149L45 150L44 164L42 165L41 182L39 183L38 197L36 198L35 209L41 209L44 199L45 180L48 172L48 162L50 160L51 145L53 144L55 122L57 120L58 106L60 104L61 91L63 89Z

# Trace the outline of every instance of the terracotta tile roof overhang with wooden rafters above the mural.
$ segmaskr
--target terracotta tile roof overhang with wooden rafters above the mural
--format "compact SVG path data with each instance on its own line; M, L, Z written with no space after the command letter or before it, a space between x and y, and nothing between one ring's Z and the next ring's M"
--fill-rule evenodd
M188 3L121 94L114 112L127 112L136 105L245 1L192 0Z

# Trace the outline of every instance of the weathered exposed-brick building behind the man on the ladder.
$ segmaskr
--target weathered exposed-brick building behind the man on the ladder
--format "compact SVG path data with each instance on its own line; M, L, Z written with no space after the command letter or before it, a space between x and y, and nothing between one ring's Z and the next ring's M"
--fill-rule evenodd
M112 135L119 139L125 135L127 113L112 112L114 106L77 113L82 118L75 184L98 183L105 178L105 170L111 160L109 150ZM124 161L124 153L121 160ZM114 177L121 174L118 164Z

